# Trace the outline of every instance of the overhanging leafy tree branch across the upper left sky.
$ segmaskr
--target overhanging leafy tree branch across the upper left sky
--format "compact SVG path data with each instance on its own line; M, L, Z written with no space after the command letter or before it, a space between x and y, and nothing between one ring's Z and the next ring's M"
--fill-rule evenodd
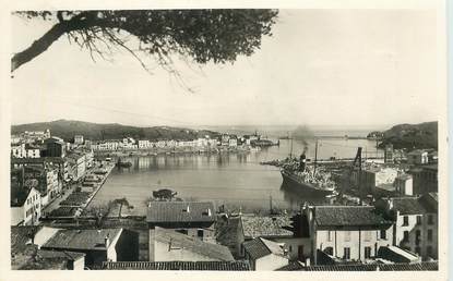
M260 48L271 35L276 10L129 10L19 11L26 20L55 23L28 48L11 58L11 72L46 51L61 36L86 49L92 59L124 49L148 71L141 54L151 56L174 75L172 54L196 63L234 62ZM135 38L136 40L131 40Z

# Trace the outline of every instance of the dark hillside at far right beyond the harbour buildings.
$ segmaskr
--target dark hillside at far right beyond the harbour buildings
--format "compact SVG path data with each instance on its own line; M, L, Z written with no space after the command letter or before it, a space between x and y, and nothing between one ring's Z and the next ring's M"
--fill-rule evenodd
M388 144L393 144L394 148L438 149L438 122L395 125L383 132L380 147Z

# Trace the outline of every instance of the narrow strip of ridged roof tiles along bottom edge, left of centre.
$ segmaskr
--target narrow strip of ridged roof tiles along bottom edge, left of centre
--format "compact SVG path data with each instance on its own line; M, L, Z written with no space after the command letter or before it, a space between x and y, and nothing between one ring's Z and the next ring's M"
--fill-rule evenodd
M212 270L249 271L247 261L105 261L107 270Z

